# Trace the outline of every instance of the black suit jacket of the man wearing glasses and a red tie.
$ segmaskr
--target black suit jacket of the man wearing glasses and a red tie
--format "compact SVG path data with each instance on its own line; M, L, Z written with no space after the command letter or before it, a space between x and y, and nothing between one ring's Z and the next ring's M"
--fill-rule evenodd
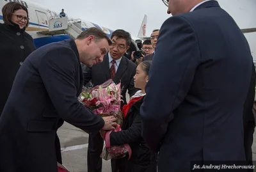
M118 69L115 74L115 78L113 81L118 84L121 82L122 87L122 97L124 102L121 103L121 107L124 106L124 104L127 104L126 102L126 91L128 90L128 93L130 97L138 91L138 88L134 88L134 75L136 72L136 65L132 63L129 59L122 57L120 64L118 66ZM108 54L104 56L102 63L97 63L96 65L93 65L92 67L88 67L83 65L83 74L84 74L84 86L88 84L89 81L92 80L93 86L97 86L99 84L102 84L103 82L110 79L110 69L109 69L109 57Z

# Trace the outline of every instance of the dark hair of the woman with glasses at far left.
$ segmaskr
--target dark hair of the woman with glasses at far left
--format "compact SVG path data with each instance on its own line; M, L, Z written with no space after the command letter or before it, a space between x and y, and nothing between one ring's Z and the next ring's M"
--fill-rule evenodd
M10 2L7 3L3 6L2 8L2 13L3 13L3 20L6 24L12 25L12 14L16 10L24 10L27 12L27 17L28 17L28 8L26 6L20 4L20 3L15 3L15 2ZM26 23L26 27L28 27L29 21Z

